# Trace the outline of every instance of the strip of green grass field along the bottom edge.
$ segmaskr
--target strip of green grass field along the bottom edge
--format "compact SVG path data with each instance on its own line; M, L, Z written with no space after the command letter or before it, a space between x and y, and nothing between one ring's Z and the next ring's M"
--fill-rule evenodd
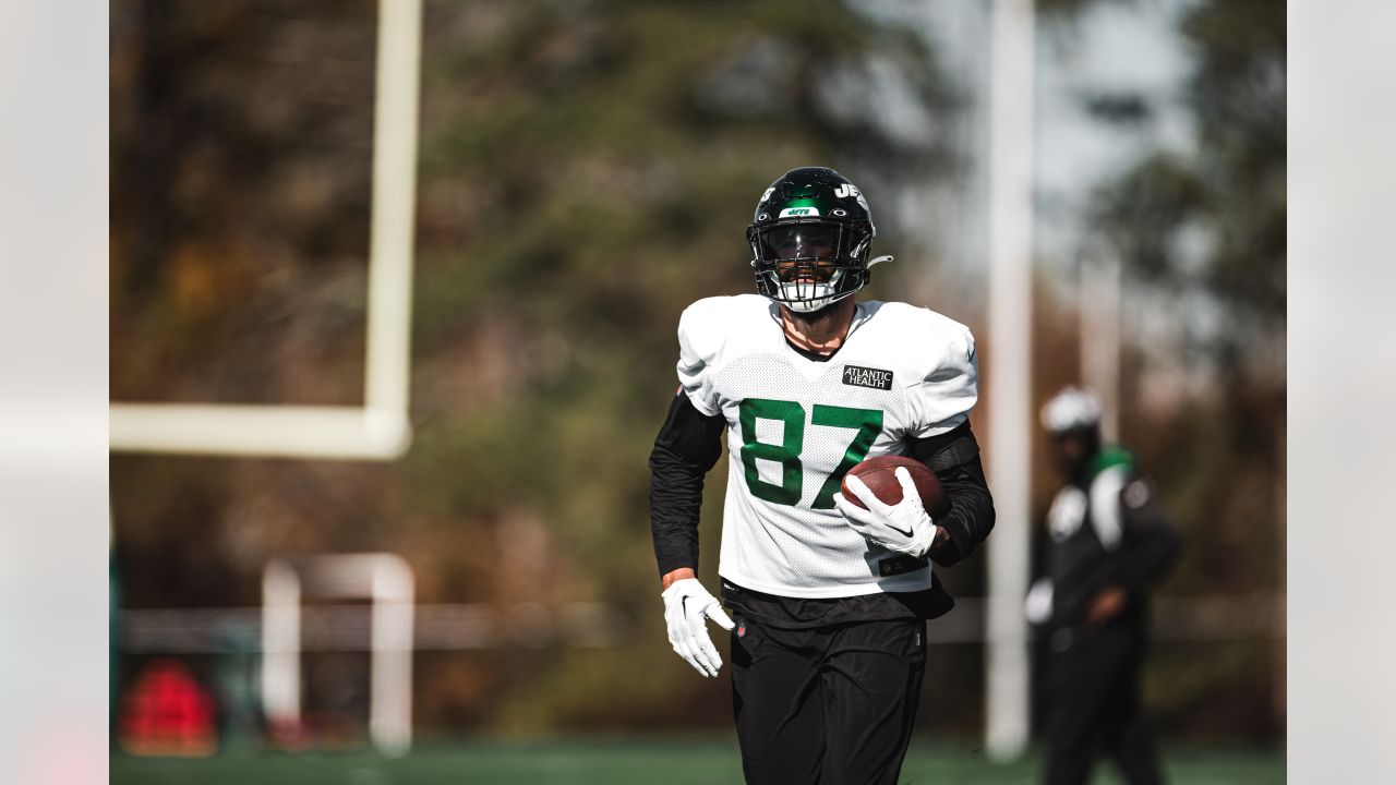
M1180 751L1167 758L1174 785L1272 785L1284 782L1283 753ZM903 785L1030 785L1036 760L997 765L949 747L913 744ZM699 785L741 782L732 742L553 742L426 747L402 758L364 751L223 754L204 760L112 758L113 784L124 785ZM1097 785L1115 785L1113 771Z

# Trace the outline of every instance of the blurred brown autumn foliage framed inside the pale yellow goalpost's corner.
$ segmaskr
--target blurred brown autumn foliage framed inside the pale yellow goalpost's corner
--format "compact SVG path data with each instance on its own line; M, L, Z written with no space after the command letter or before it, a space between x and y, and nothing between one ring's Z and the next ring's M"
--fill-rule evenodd
M113 3L113 398L359 399L374 8Z

